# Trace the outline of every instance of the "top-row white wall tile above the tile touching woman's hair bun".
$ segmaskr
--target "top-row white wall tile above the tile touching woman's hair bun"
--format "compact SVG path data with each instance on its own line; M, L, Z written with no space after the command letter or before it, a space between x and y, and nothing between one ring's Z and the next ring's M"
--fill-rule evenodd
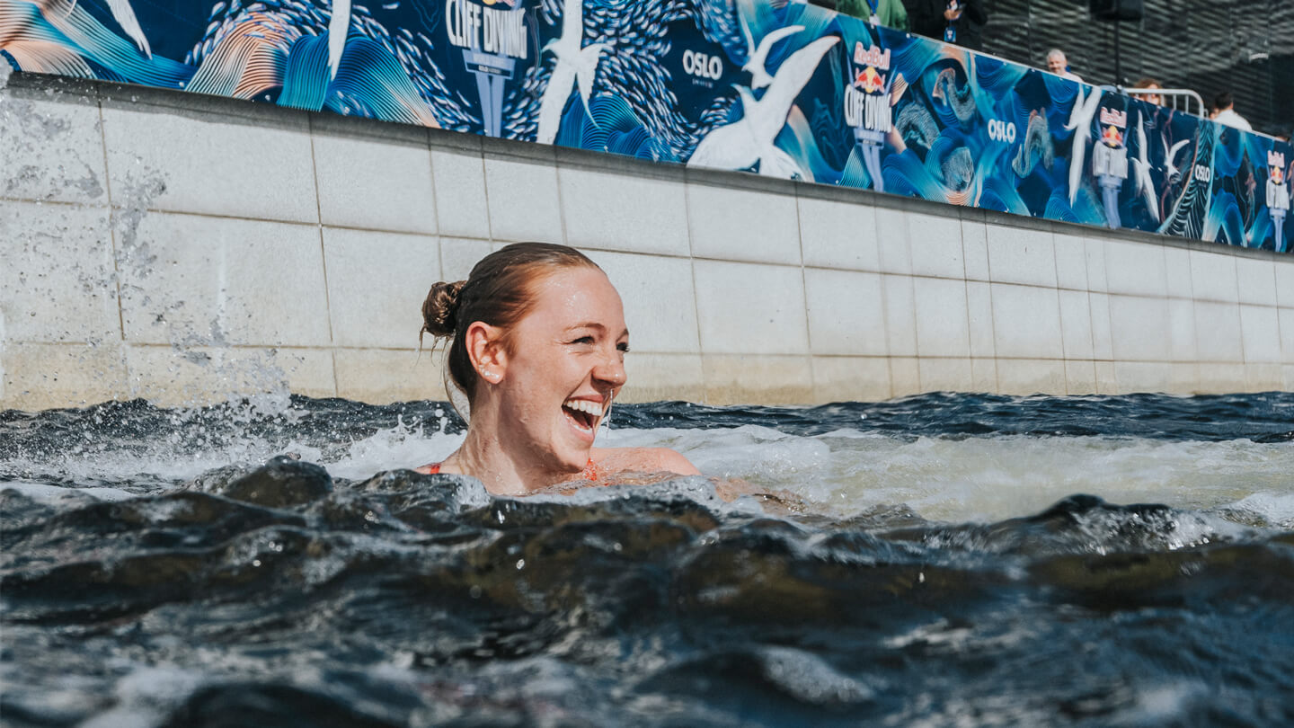
M329 133L316 133L313 145L325 225L436 232L426 132L421 145Z

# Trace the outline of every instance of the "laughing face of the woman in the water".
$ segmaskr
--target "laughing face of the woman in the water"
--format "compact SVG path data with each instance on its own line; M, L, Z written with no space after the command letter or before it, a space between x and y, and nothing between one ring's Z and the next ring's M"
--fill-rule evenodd
M547 469L575 473L625 383L624 306L598 268L560 268L532 285L534 303L507 334L498 435Z

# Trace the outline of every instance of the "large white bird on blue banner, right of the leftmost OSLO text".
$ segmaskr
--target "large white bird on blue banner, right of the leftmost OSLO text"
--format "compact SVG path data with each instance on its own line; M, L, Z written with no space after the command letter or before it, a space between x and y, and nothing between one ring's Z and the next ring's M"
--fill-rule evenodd
M792 53L778 67L762 98L756 100L748 88L736 87L741 98L741 118L705 135L687 165L744 170L758 162L761 175L801 174L795 159L778 149L774 140L787 124L787 115L800 89L809 83L818 62L839 40L840 38L833 35L819 38Z

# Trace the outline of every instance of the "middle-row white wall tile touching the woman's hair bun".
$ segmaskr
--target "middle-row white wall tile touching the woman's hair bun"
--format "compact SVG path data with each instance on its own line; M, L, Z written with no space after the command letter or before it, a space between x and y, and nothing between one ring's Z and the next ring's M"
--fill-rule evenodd
M324 263L333 343L418 346L422 302L440 280L436 237L324 228Z

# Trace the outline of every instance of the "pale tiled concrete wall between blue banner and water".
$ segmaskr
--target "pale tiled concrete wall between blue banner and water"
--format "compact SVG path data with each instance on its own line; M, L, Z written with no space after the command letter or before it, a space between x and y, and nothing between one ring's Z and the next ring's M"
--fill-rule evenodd
M419 304L565 242L625 396L1294 389L1294 256L198 97L0 92L0 408L444 398Z

